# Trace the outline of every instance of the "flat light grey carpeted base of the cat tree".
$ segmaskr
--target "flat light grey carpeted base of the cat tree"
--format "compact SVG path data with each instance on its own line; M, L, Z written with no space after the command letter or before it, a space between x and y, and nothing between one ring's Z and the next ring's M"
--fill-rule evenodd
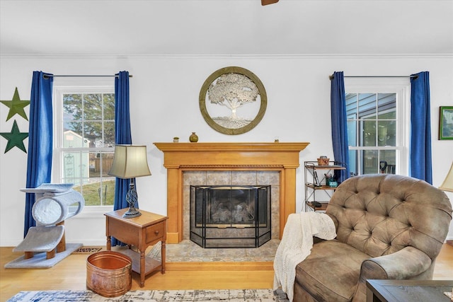
M29 259L25 259L24 255L15 260L6 263L6 269L47 269L53 267L58 262L62 261L67 256L71 255L74 250L82 246L81 243L67 243L66 250L56 252L55 257L46 259L45 252L35 252L35 255Z

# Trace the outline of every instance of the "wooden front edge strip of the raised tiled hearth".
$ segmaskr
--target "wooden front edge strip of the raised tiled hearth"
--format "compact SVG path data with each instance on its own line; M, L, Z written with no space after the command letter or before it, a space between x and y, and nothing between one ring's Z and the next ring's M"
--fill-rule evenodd
M270 271L274 262L166 262L168 271Z

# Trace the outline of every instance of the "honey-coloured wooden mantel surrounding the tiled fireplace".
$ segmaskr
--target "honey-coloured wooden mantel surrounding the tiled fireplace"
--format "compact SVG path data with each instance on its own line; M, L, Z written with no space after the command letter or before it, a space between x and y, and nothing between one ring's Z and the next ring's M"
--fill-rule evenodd
M154 143L167 168L167 241L183 238L183 172L186 170L280 171L280 238L289 214L296 211L296 169L307 142Z

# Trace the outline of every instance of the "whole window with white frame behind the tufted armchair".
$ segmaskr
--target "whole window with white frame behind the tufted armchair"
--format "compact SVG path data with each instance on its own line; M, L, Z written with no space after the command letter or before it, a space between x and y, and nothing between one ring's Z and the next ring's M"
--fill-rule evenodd
M407 175L408 88L345 83L351 175Z

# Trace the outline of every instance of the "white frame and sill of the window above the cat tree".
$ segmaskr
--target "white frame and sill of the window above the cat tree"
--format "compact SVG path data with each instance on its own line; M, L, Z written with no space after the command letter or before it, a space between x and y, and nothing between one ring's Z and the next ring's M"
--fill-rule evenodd
M110 79L110 81L112 81ZM95 82L95 81L92 81ZM100 85L93 85L86 86L86 85L78 85L78 86L55 86L53 88L53 156L52 156L52 180L55 182L61 182L63 178L63 164L62 164L62 151L67 151L67 149L63 148L63 130L64 130L64 122L63 122L63 95L68 93L115 93L115 86L112 85L105 85L101 84L103 81L97 81ZM86 150L84 148L74 148L71 150L80 151ZM98 148L97 151L108 151L113 152L115 151L115 146L112 148L104 147ZM91 151L93 152L93 150ZM86 206L81 211L81 214L77 215L78 218L97 218L99 213L103 214L108 211L113 211L113 205L105 205L105 206Z

